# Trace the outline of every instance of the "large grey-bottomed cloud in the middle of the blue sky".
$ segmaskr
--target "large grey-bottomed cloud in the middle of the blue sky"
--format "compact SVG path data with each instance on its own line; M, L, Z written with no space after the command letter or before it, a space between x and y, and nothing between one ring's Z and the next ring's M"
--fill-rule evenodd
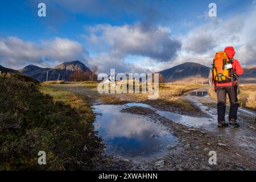
M133 26L99 24L90 27L89 31L90 43L123 56L138 55L167 61L175 57L176 51L181 46L178 40L171 37L171 31L166 27L144 30L141 24Z

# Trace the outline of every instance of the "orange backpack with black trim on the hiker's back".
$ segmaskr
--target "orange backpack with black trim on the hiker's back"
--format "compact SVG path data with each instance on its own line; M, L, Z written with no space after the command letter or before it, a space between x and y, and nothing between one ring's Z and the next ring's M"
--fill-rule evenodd
M232 64L228 54L224 51L216 53L212 64L213 80L217 83L231 82L232 69L226 69L225 65Z

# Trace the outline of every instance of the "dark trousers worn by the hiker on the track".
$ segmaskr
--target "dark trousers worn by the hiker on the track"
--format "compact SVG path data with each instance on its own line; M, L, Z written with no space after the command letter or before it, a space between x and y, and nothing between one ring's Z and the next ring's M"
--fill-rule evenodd
M229 121L230 119L237 119L237 86L217 86L217 111L218 121L225 121L226 113L226 94L229 96L230 110L229 110Z

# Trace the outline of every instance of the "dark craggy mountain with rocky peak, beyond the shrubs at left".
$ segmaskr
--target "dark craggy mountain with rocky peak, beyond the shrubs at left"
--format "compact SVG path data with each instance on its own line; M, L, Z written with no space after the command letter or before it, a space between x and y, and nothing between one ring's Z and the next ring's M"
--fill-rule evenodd
M92 73L92 71L90 71L90 69L80 61L64 62L60 65L57 65L54 68L40 68L35 65L28 65L23 69L19 69L19 71L24 75L35 78L38 81L46 81L47 72L48 72L48 80L57 80L57 78L60 75L59 79L64 81L69 80L71 73L75 71L79 71L79 72L87 71L89 73Z

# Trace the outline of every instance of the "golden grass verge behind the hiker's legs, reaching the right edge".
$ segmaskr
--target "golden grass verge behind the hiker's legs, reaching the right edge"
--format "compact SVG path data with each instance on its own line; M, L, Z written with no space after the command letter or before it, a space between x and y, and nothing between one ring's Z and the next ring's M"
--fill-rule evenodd
M240 106L256 110L256 84L242 84L240 85L240 94L238 94L238 102ZM216 93L212 89L209 91L209 96L217 100ZM227 97L227 102L229 99Z

